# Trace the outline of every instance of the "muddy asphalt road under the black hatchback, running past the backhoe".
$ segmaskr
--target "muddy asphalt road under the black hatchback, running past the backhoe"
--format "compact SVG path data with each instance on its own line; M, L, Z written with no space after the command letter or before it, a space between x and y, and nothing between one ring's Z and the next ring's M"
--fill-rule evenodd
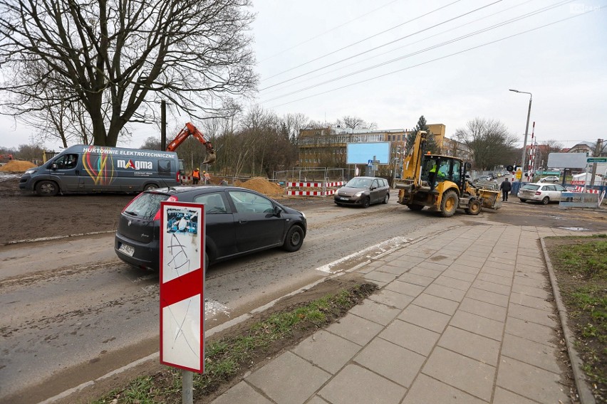
M489 221L606 230L604 213L511 201L440 218L395 202L368 209L330 200L304 208L298 252L269 250L207 272L206 329L408 240ZM602 219L601 219L602 216ZM158 350L158 277L118 260L113 235L0 247L0 402L36 403ZM27 394L21 394L27 392Z

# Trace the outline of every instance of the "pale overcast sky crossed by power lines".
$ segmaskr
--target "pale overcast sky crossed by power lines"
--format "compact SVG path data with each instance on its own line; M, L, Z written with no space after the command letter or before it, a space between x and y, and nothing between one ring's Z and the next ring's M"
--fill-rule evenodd
M424 115L447 137L496 119L520 147L529 95L515 89L533 94L529 141L533 122L539 143L607 139L607 0L254 0L253 11L251 102L278 115L354 115L378 129ZM24 125L0 124L1 147L30 142ZM122 145L156 134L138 129Z

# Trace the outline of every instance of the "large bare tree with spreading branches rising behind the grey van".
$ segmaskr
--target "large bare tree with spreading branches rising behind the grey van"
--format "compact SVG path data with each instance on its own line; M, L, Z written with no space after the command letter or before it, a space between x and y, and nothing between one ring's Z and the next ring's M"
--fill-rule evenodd
M256 86L250 0L0 0L3 113L85 112L93 144L169 101L191 117ZM69 115L69 114L68 114ZM56 119L60 122L61 119Z

